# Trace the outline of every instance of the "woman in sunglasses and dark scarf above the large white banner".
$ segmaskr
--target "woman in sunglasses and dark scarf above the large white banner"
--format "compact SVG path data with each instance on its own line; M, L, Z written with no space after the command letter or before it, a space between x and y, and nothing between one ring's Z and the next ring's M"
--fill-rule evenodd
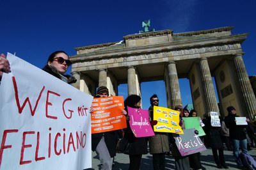
M67 82L68 84L76 82L75 77L71 75L64 75L67 72L68 66L72 63L68 58L68 54L62 50L52 52L49 56L47 65L43 70L51 75L54 75L58 79Z

